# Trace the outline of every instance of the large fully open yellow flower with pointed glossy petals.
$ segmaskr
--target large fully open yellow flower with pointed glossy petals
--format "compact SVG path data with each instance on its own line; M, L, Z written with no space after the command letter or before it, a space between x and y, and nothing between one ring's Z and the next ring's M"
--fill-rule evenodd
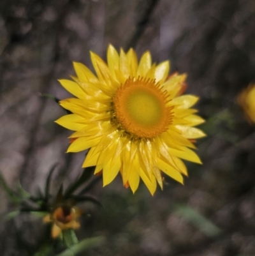
M154 194L163 188L161 171L183 183L187 169L182 160L201 163L192 151L194 139L205 136L194 128L204 120L190 109L193 95L179 96L186 74L168 77L170 63L152 64L150 52L138 62L133 49L120 53L110 45L107 64L91 52L94 75L81 63L73 63L77 77L59 80L77 98L60 102L73 114L56 123L76 131L68 152L89 149L82 167L103 170L103 186L120 172L124 186L133 193L140 177Z

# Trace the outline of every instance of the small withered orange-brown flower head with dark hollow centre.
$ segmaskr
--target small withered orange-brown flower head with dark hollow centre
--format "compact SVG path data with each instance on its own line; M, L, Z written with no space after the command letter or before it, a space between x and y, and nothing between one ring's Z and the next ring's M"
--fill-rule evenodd
M78 229L78 217L82 211L77 207L59 206L43 218L43 222L52 222L52 238L58 237L64 229Z

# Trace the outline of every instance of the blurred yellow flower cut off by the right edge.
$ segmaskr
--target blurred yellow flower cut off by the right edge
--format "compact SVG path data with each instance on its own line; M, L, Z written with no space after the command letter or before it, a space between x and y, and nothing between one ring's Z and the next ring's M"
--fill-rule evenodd
M255 84L250 84L239 94L238 104L244 109L249 122L255 123Z

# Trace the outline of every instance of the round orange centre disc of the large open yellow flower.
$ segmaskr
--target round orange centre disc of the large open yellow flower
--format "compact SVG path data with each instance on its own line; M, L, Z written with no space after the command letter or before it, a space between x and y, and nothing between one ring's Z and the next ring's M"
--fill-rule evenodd
M113 97L115 117L121 128L138 138L160 135L171 124L168 95L155 80L128 79Z

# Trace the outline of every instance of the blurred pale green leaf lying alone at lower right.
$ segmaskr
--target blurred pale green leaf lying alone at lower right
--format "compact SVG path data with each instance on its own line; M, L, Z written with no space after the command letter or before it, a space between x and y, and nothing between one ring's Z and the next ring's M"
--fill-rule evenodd
M175 213L179 214L187 221L191 222L195 227L201 230L205 235L209 237L215 237L221 234L221 229L217 227L214 223L210 222L203 215L198 213L193 208L183 205L177 204L174 206Z

